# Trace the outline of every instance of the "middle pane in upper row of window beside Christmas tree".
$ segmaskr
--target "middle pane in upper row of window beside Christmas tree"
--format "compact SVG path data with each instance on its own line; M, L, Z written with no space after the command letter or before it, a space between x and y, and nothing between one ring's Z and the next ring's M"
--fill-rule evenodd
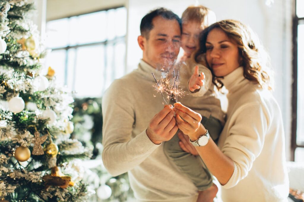
M70 45L105 41L105 19L105 11L72 17Z

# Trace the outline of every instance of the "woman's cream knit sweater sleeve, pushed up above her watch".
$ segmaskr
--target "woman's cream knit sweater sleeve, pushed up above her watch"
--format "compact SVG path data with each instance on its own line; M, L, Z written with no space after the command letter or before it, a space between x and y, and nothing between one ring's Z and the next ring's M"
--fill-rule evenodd
M260 102L245 104L238 108L228 125L229 134L222 152L234 163L234 171L223 188L231 188L247 176L254 160L260 155L269 116Z

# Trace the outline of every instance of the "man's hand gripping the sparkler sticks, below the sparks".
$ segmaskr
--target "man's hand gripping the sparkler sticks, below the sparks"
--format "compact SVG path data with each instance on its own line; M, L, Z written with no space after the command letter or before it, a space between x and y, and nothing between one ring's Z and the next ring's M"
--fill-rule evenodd
M151 119L146 133L154 144L170 140L177 132L178 127L172 108L171 104L165 106Z

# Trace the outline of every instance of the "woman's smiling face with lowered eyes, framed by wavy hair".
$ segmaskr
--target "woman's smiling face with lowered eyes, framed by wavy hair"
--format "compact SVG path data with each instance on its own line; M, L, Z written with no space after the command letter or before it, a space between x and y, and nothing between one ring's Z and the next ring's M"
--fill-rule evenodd
M240 66L236 43L220 28L212 29L207 36L206 60L218 77L226 76Z

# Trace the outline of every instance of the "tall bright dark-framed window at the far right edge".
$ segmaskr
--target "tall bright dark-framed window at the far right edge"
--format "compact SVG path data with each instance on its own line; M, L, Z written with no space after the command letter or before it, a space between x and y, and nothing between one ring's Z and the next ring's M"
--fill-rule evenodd
M293 22L292 155L304 162L304 0L295 1Z

